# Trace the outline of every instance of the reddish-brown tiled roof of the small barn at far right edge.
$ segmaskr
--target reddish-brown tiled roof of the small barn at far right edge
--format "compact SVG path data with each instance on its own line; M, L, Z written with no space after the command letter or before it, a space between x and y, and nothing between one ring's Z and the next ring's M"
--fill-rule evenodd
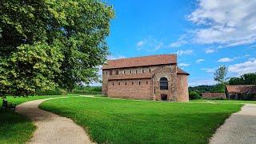
M256 85L230 85L226 86L228 93L256 94Z

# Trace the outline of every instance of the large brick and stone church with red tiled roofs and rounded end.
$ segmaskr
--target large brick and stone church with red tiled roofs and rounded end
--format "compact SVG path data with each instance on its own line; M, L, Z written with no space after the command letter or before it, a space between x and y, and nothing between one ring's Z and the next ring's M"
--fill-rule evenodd
M177 66L176 54L108 60L102 66L102 94L188 102L188 73Z

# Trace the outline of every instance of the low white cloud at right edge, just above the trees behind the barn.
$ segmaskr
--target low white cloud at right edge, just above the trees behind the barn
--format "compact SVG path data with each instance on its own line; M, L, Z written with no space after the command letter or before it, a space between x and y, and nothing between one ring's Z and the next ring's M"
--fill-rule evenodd
M230 65L228 68L229 72L242 75L246 73L255 73L256 72L256 60L246 61L234 65Z

